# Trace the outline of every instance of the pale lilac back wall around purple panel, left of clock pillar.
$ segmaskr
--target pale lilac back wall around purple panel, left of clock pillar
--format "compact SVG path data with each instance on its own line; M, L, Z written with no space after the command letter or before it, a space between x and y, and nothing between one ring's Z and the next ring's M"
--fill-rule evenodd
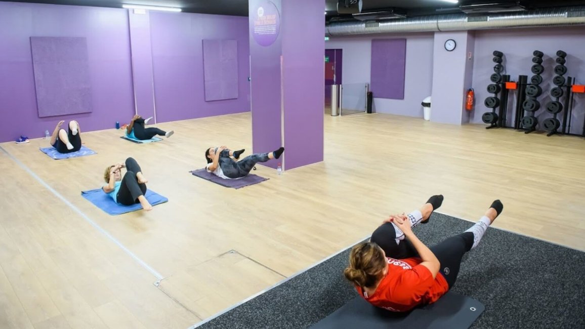
M422 118L421 102L431 95L433 71L433 33L391 34L388 38L407 39L404 100L377 98L374 112L418 116ZM342 83L370 83L371 36L331 37L327 49L343 49Z

